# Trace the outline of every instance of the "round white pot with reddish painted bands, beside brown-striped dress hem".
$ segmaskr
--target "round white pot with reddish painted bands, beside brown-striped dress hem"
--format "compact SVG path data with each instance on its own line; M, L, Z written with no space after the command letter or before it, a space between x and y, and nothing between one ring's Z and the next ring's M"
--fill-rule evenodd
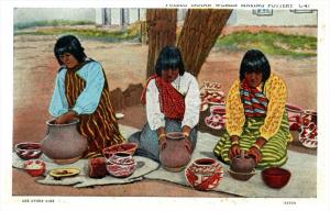
M107 159L107 170L114 177L129 177L136 169L136 162L129 153L114 153Z

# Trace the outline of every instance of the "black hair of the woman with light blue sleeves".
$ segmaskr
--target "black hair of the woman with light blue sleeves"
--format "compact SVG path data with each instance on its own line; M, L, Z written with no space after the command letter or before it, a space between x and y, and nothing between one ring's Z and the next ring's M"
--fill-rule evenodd
M79 40L74 35L61 36L54 46L54 54L59 65L63 65L59 56L65 53L73 54L79 63L84 63L86 59L84 47L81 46Z

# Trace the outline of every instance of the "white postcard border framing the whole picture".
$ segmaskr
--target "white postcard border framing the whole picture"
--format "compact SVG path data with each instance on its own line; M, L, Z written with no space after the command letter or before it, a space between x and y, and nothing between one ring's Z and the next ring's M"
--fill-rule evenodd
M329 210L329 132L327 120L329 111L327 99L329 99L329 1L253 1L253 4L293 4L294 9L299 5L309 4L318 9L318 122L319 122L319 147L318 147L318 197L312 199L254 199L254 198L105 198L105 197L28 197L29 199L54 199L55 203L22 203L26 197L12 197L12 116L13 116L13 8L220 8L218 4L238 4L237 8L224 7L224 9L244 9L240 3L252 3L252 1L147 1L147 0L70 0L70 1L0 1L0 210L37 210L47 208L50 210L76 210L76 209L102 209L114 210L144 209L144 210ZM252 8L249 8L252 9ZM276 9L276 8L272 8ZM277 8L283 9L283 8ZM328 21L328 22L327 22ZM305 167L301 164L302 168ZM285 206L284 201L293 200L295 206Z

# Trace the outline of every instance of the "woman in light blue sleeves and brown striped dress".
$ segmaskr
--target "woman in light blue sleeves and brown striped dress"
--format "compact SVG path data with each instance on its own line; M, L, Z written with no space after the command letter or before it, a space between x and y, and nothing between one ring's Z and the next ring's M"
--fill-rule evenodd
M78 132L88 141L84 157L99 156L105 147L124 142L102 66L87 58L79 40L73 35L59 37L54 54L61 65L50 106L55 123L79 119Z

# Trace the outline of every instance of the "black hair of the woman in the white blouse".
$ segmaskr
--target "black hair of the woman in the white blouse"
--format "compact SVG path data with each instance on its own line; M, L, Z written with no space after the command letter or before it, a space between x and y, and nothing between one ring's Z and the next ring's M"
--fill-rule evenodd
M156 62L155 71L157 76L162 76L162 70L179 69L179 75L185 73L185 64L180 51L175 46L164 47Z

